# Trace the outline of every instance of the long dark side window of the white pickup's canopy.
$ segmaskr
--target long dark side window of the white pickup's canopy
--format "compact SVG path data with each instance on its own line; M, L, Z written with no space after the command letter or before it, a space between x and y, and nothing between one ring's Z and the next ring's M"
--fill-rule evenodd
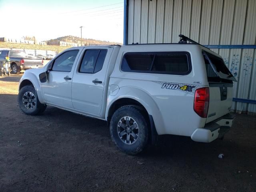
M187 52L127 53L121 69L125 72L189 74L190 56Z

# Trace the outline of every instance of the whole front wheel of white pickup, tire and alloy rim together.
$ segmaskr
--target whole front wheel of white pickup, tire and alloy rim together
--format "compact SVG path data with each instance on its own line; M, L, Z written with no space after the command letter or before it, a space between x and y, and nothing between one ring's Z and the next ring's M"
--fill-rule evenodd
M22 112L27 115L41 114L47 107L47 105L39 102L36 90L32 85L26 85L20 89L18 104Z

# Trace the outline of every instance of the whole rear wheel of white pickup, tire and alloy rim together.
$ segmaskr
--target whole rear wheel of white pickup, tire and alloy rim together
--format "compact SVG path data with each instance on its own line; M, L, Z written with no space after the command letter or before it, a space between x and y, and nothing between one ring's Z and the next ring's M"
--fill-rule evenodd
M123 106L114 112L110 135L119 150L136 155L148 144L148 124L143 113L134 106Z

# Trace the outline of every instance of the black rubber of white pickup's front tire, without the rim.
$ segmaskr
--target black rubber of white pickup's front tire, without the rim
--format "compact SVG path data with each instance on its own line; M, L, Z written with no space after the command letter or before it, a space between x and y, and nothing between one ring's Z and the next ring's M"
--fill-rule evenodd
M29 93L29 92L34 95L35 102L33 102L33 104L34 104L33 108L31 108L31 105L28 105L28 106L30 106L30 108L26 108L26 106L23 103L24 94ZM26 85L20 89L19 94L18 94L18 104L19 104L19 107L22 110L22 112L24 112L27 115L39 115L42 112L44 112L44 110L47 107L47 105L40 103L40 101L38 100L37 94L36 94L36 90L34 89L34 86L32 86L32 85Z

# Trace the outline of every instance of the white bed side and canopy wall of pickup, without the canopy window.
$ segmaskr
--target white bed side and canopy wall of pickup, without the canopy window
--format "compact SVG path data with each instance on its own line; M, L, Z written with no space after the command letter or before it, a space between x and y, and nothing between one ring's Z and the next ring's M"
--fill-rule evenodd
M122 72L120 64L126 52L146 51L185 51L190 54L192 71L188 75L148 74ZM196 45L161 45L161 46L123 46L117 58L117 64L110 78L110 86L120 87L116 98L134 97L153 116L158 134L191 136L196 128L203 128L206 118L194 112L194 92L201 87L208 87L206 69L202 58L202 49ZM196 83L200 82L200 83ZM175 86L174 86L175 85ZM180 89L190 86L189 90ZM129 88L128 88L129 87ZM175 87L175 89L172 89ZM121 91L123 90L123 91ZM140 90L134 93L135 90ZM143 92L143 94L142 94Z

